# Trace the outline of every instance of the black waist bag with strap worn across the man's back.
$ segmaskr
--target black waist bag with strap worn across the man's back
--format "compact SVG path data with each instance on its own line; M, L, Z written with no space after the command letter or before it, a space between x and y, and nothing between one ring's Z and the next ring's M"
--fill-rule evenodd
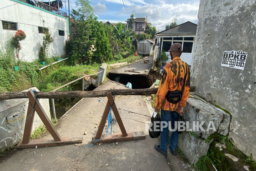
M183 87L180 90L175 90L175 91L168 91L167 94L166 94L166 100L169 101L170 103L172 104L177 104L178 102L181 101L181 97L182 97L182 94L183 94L183 90L184 90L184 87L185 87L185 81L186 81L186 78L187 78L187 64L186 64L186 74L184 75L184 84L183 84Z

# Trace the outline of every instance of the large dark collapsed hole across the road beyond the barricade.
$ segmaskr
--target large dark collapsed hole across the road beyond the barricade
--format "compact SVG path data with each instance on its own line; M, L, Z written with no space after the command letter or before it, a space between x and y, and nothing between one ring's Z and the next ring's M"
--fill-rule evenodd
M130 82L132 89L146 89L150 88L156 79L160 79L160 74L154 70L150 70L147 75L108 73L107 77L112 81L120 82L124 85Z

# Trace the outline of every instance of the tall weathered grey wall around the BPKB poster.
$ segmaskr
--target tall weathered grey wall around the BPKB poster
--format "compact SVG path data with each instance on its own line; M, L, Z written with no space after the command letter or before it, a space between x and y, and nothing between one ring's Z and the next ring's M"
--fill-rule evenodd
M256 1L200 1L191 85L196 94L228 110L229 138L256 156ZM247 52L244 70L221 66L224 51Z

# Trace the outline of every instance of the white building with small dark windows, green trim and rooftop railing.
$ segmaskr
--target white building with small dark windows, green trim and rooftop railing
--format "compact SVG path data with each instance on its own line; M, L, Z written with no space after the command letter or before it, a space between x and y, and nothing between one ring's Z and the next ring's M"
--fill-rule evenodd
M68 40L69 27L67 13L60 8L39 2L30 4L26 0L0 0L0 46L4 46L17 30L23 30L26 39L21 41L19 56L31 62L38 58L45 31L49 31L54 41L50 45L50 56L65 55L65 41ZM50 0L50 4L54 1ZM62 1L64 2L64 1ZM61 6L60 6L61 7Z

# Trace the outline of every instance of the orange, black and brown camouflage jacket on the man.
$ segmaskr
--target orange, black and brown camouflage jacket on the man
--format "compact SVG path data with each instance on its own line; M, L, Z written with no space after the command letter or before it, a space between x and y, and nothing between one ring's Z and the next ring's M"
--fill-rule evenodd
M186 71L185 66L187 67L187 78L185 78L185 87L182 94L181 101L177 104L172 104L166 100L166 94L168 90L175 91L183 88L184 77ZM177 111L179 112L182 107L186 106L190 88L190 68L188 64L181 61L180 57L175 57L169 63L167 63L163 68L163 76L160 81L160 85L155 97L155 108Z

